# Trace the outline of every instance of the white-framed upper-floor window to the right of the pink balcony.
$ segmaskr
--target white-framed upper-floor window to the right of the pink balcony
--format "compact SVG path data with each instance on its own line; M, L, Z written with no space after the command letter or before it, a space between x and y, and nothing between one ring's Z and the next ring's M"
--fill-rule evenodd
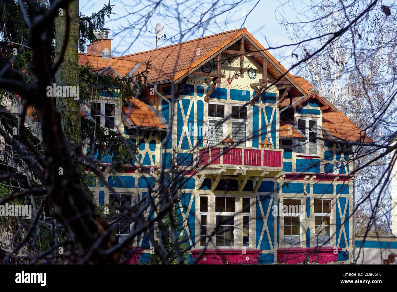
M297 153L317 154L317 120L298 119L298 130L308 137L306 140L298 140Z

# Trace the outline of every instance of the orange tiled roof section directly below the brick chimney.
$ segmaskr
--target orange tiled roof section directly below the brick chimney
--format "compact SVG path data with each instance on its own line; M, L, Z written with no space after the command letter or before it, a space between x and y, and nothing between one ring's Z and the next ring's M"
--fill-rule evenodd
M111 57L110 59L102 58L101 55L79 53L79 66L89 64L93 67L93 72L99 72L107 67L112 67L121 77L127 76L132 68L138 63L136 60L126 60L122 58Z

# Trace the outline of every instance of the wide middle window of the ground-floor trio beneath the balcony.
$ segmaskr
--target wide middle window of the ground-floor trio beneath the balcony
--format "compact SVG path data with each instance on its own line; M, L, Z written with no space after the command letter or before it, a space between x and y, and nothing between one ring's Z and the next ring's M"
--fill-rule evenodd
M234 246L236 199L215 197L216 246Z

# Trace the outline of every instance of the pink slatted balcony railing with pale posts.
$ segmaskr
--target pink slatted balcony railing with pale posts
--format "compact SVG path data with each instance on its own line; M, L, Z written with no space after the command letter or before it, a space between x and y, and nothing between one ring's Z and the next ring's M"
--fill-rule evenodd
M282 149L219 146L200 149L199 165L282 168Z

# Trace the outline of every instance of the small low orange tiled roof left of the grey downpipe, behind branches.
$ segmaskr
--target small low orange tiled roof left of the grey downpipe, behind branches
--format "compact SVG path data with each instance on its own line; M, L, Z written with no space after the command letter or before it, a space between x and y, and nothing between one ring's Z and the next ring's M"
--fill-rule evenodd
M125 126L128 128L131 126L158 129L167 128L164 123L160 121L160 119L163 119L160 114L156 115L148 104L135 98L131 98L129 102L128 106L123 106L121 109L121 119Z

